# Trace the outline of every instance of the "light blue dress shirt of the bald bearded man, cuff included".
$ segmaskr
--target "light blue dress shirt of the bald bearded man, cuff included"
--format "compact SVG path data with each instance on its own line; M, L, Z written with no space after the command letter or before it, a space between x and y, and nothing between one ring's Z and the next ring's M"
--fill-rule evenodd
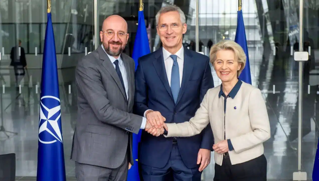
M120 68L120 71L122 73L122 79L123 79L123 82L124 82L124 87L125 87L125 93L126 93L126 97L127 99L129 99L129 81L128 81L128 76L127 76L127 72L126 72L126 69L125 69L125 66L124 66L124 62L121 58L121 55L119 56L118 59L115 59L113 56L109 55L103 45L101 45L101 47L103 48L104 52L108 55L108 58L111 60L114 68L115 68L115 60L118 60L119 61L119 68ZM145 125L146 125L146 117L143 117L142 119L142 125L141 125L141 128L140 129L145 129Z

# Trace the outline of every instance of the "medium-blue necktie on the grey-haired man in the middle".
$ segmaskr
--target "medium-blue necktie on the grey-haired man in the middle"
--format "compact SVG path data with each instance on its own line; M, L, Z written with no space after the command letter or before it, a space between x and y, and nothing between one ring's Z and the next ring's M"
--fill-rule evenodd
M177 63L177 55L170 55L170 57L174 60L171 74L171 91L173 94L174 101L176 103L178 93L180 90L179 67Z

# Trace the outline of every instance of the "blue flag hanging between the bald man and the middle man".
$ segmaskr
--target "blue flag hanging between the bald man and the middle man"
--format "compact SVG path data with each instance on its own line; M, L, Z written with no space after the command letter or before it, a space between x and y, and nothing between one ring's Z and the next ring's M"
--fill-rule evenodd
M134 48L132 53L132 58L135 62L135 70L138 65L138 59L146 54L149 54L150 45L148 43L147 31L145 26L144 20L144 11L138 11L138 26L137 32L134 42ZM134 165L132 165L131 169L129 170L127 180L128 181L140 181L139 173L138 173L138 143L141 140L142 130L138 132L138 134L133 134L133 158L134 158Z

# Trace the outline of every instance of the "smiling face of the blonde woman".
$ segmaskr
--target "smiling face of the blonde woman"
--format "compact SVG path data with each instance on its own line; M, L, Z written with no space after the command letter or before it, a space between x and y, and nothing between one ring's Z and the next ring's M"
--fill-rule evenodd
M241 64L238 63L234 51L219 50L216 53L214 69L222 82L237 81L237 71L240 70L240 68Z

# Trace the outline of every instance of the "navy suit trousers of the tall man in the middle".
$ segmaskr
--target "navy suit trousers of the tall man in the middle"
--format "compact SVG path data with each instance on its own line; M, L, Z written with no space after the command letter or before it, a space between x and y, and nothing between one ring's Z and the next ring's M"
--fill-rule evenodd
M156 162L154 158L154 162ZM197 159L197 158L195 158ZM141 165L144 181L200 181L202 172L196 168L188 168L184 164L177 143L173 143L173 149L164 168L155 168L148 165Z

